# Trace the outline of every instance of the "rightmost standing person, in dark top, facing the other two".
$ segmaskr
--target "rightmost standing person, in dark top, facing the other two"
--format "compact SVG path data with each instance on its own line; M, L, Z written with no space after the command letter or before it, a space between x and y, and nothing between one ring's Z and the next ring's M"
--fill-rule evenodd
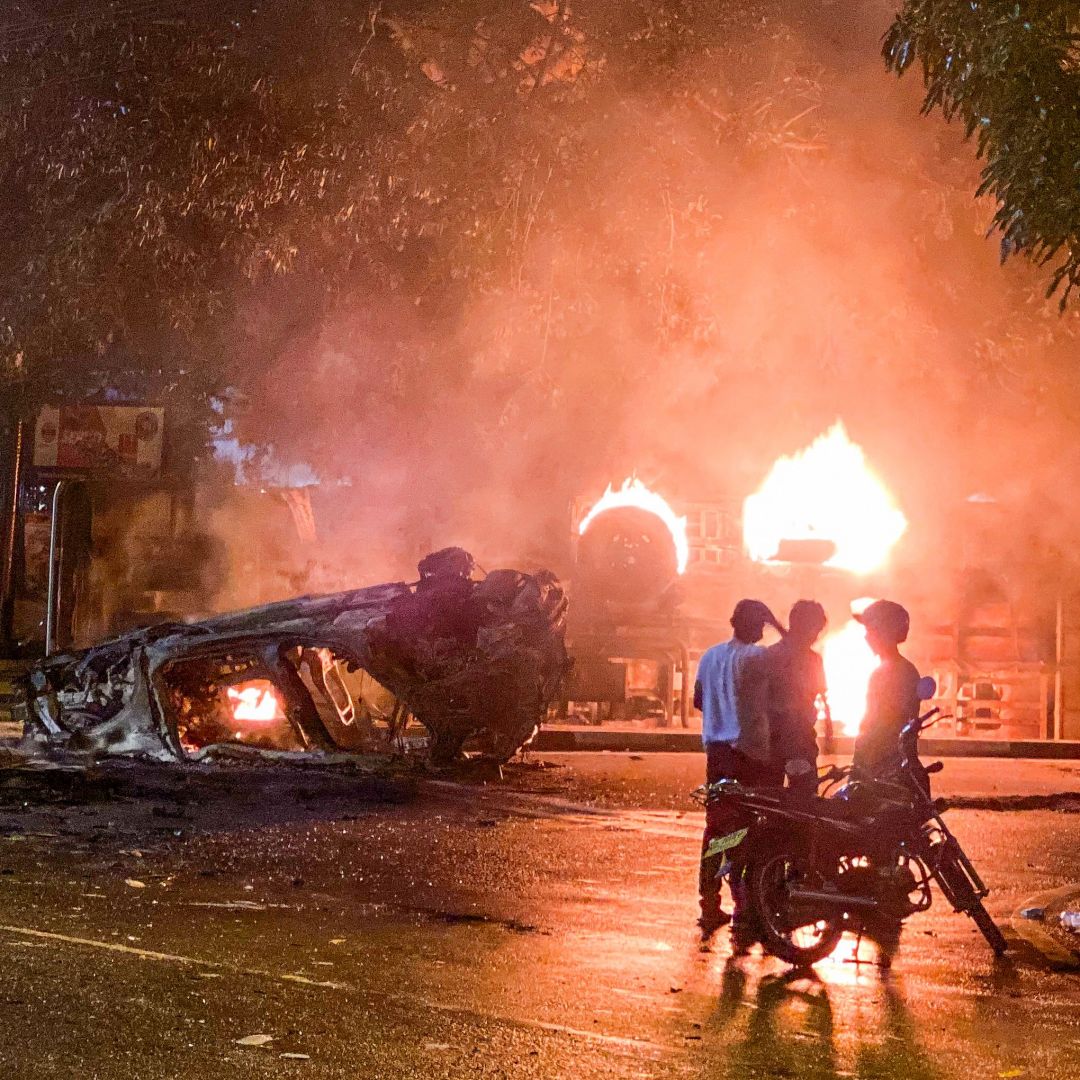
M852 764L864 775L879 777L899 762L900 732L919 713L919 672L899 648L912 620L892 600L875 600L855 619L866 627L866 642L881 662L870 675Z

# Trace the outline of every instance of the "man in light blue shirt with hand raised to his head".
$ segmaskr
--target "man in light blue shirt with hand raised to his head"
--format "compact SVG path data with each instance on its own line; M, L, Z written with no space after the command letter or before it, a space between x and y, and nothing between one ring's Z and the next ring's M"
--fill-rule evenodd
M760 600L742 599L731 616L732 636L714 645L701 658L693 688L694 707L701 710L701 741L705 747L705 778L710 784L738 780L750 785L774 781L769 767L769 716L766 704L765 648L757 643L766 625L780 623ZM710 841L738 829L723 800L710 804L705 813L698 892L701 928L707 940L730 917L720 906L719 873L724 855L706 854ZM732 863L735 859L732 858ZM732 872L731 895L738 928L745 910L739 869Z

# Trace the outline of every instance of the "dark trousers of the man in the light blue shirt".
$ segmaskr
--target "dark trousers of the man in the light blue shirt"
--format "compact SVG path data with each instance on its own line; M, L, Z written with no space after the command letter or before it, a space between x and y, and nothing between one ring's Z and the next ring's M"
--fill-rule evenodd
M705 746L705 780L710 784L715 784L719 780L738 780L747 787L779 786L784 782L783 768L780 769L778 777L773 766L747 757L729 743L708 743ZM715 916L719 909L720 880L717 874L724 862L723 854L706 858L708 841L728 836L746 824L743 814L727 799L715 799L705 807L705 835L701 841L701 869L698 875L698 895L701 897L701 914L704 918ZM731 860L729 882L734 908L732 918L737 923L746 908L746 886L743 880L746 868L744 850L740 845L728 852L728 858Z

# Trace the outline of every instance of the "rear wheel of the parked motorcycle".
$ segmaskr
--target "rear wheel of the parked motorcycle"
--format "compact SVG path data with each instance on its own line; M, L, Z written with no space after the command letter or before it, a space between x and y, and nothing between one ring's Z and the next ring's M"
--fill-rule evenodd
M825 959L843 936L843 916L799 914L788 886L807 876L805 856L796 851L768 855L751 867L751 903L757 913L761 944L795 968Z

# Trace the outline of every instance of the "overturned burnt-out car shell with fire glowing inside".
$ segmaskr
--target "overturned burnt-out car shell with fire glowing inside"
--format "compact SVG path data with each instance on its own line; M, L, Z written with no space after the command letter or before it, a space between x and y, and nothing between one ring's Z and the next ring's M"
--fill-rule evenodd
M474 580L458 548L420 579L139 630L30 672L26 742L200 760L225 747L391 751L505 760L542 721L568 661L548 571ZM468 743L468 746L467 746ZM246 751L245 751L246 752Z

